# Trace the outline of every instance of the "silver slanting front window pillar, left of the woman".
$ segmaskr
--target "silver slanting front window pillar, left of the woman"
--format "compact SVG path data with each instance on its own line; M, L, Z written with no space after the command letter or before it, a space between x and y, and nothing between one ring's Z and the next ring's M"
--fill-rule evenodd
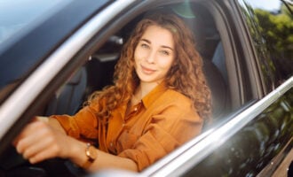
M30 119L37 115L37 110L40 110L46 104L52 93L67 80L67 77L75 71L75 68L82 65L84 60L87 59L83 58L83 61L81 61L80 58L76 59L75 55L91 41L94 35L107 27L110 21L132 4L134 4L134 1L127 3L118 1L108 4L105 9L89 19L83 27L77 29L75 34L62 42L59 48L52 52L44 63L28 76L26 81L13 91L11 96L7 97L0 107L0 114L3 118L6 118L0 119L2 144L0 153L4 152L10 145L21 127L24 127ZM59 77L60 73L63 74L63 77ZM54 81L54 84L50 85L52 81ZM17 109L14 108L14 103L19 103ZM17 124L14 124L15 122Z

